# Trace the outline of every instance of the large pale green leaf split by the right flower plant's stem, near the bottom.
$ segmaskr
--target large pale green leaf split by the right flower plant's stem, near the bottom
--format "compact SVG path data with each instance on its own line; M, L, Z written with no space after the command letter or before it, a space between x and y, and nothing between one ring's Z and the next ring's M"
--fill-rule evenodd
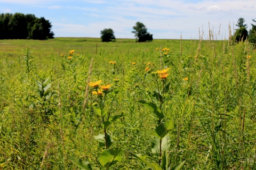
M162 147L161 151L163 152L164 150L170 150L171 146L171 137L170 134L167 134L162 140ZM159 156L159 151L160 151L160 139L159 138L154 138L151 142L151 151L152 154L155 156Z

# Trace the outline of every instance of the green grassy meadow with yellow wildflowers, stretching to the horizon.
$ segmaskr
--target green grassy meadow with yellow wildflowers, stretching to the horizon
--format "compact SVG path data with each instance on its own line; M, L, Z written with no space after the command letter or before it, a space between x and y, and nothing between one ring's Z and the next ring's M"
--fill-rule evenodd
M256 169L256 52L213 39L0 40L0 169Z

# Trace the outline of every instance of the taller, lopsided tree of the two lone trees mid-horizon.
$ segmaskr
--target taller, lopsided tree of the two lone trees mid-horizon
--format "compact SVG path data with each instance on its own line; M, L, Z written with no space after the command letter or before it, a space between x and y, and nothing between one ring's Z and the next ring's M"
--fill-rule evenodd
M134 37L138 38L138 42L145 42L145 41L152 41L153 35L147 32L146 25L144 25L141 22L135 23L135 26L133 27L135 31L132 31L134 33Z

